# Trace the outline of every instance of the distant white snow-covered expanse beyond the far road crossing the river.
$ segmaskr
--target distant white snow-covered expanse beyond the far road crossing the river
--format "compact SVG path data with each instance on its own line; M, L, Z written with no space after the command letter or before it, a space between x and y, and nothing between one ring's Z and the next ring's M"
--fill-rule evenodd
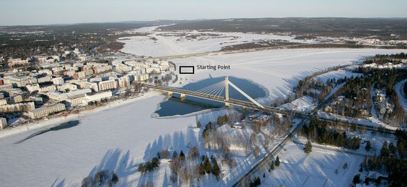
M147 36L122 37L125 43L122 52L146 56L182 55L219 51L223 46L260 42L269 40L285 40L296 43L312 43L294 39L291 36L260 35L250 33L216 33L193 31L163 32L153 31L157 26L139 28L134 32L149 32Z

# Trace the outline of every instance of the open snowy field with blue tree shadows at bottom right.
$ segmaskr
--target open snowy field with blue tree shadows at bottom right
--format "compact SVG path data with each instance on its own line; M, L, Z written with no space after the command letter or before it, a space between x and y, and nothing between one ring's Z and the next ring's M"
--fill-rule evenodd
M278 157L280 166L266 171L266 178L261 174L261 186L349 186L363 160L362 156L320 148L312 148L310 154L305 154L303 145L292 141ZM347 168L344 168L345 163Z

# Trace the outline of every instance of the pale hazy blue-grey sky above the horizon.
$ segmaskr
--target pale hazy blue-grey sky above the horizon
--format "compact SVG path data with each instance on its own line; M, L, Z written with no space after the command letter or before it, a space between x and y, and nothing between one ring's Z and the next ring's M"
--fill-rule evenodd
M407 0L0 0L0 25L242 17L407 17Z

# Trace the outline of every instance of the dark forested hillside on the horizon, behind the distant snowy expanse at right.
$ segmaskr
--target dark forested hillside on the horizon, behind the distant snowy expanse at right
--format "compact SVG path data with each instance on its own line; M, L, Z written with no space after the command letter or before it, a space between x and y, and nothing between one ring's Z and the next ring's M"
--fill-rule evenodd
M407 39L407 19L362 18L255 18L210 19L163 27L163 30L206 30L223 32L292 33L332 37L373 37Z

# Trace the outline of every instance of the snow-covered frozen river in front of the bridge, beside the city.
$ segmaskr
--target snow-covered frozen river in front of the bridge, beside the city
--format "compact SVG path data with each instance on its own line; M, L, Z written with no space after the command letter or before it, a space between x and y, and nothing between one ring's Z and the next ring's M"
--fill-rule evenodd
M80 186L83 177L102 169L115 170L120 181L125 181L136 172L138 163L151 160L163 148L189 150L187 145L197 144L195 132L189 127L195 127L197 120L206 124L225 113L218 110L184 118L152 118L161 100L163 96L154 94L113 109L69 118L67 121L79 120L80 124L22 143L17 142L54 125L0 139L1 186Z

